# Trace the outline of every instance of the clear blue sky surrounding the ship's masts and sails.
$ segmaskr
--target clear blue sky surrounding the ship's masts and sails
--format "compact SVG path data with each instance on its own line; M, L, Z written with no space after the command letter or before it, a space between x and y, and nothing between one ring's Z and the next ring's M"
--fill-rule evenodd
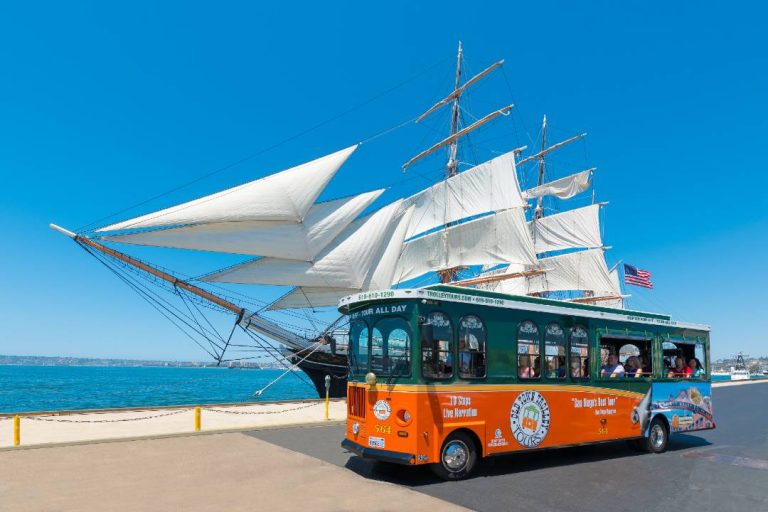
M136 210L254 179L364 140L504 58L475 115L480 157L589 132L552 173L598 167L609 260L654 274L630 305L713 327L716 357L768 354L768 48L763 7L715 2L19 2L0 16L0 353L201 359L204 354L76 245L76 228L360 106ZM393 87L398 86L391 90ZM384 91L376 101L366 103ZM364 144L323 195L436 180L440 119ZM467 159L472 155L465 155ZM225 262L133 254L190 274ZM262 293L262 292L256 292ZM273 292L274 293L274 292Z

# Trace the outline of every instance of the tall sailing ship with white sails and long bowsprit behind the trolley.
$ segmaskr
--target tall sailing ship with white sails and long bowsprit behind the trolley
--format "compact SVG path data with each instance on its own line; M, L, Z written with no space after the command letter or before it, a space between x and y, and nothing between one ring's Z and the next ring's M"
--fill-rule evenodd
M595 169L548 180L548 155L586 134L548 145L544 117L540 147L519 147L460 169L469 134L502 121L513 108L464 123L468 89L502 65L495 62L462 82L459 44L453 89L415 120L447 111L449 133L403 165L407 171L447 154L444 178L381 207L376 201L384 190L318 201L356 145L97 229L74 233L51 226L110 268L218 364L271 357L286 370L303 370L321 396L326 376L331 396L346 393L345 320L328 321L327 312L353 293L439 283L622 308L626 296L617 267L609 269L605 259L600 211L606 203L595 202L593 190L583 206ZM534 180L521 179L531 175ZM535 185L521 188L521 182ZM562 208L577 196L582 206ZM559 212L545 207L552 203ZM253 258L191 278L114 244ZM227 288L232 283L290 289L261 303ZM202 306L233 314L231 331L217 330ZM240 331L246 342L235 337Z

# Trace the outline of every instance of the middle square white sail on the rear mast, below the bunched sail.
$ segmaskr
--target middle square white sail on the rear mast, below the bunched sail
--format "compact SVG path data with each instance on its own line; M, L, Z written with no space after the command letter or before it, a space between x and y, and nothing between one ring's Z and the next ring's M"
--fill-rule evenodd
M599 213L600 205L593 204L532 221L536 253L602 247Z

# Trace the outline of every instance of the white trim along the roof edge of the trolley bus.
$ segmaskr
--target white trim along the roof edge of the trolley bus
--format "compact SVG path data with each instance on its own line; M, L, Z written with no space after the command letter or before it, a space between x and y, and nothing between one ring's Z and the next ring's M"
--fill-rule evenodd
M443 300L449 302L462 302L465 304L477 304L481 306L496 306L508 309L518 309L522 311L536 311L540 313L552 313L556 315L581 316L586 318L598 318L602 320L614 320L617 322L632 322L646 325L663 325L667 327L680 327L683 329L696 329L709 332L710 326L703 324L692 324L687 322L677 322L675 320L666 320L664 318L649 318L638 316L638 311L626 311L616 313L607 311L594 311L589 309L555 306L551 304L540 304L535 302L514 300L500 297L488 297L482 295L469 295L463 293L454 293L441 290L430 290L428 288L418 289L398 289L398 290L372 290L368 292L355 293L342 298L339 301L339 307L349 307L358 302L370 300L391 300L391 299L430 299ZM651 313L653 314L653 313Z

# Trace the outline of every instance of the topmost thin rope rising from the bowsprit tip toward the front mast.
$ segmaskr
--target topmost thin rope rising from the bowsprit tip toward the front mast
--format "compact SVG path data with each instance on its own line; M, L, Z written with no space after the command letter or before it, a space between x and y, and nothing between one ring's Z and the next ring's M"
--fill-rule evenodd
M118 216L118 215L120 215L122 213L126 213L126 212L134 210L134 209L136 209L136 208L138 208L140 206L143 206L143 205L145 205L147 203L150 203L152 201L155 201L157 199L165 197L165 196L167 196L169 194L172 194L174 192L178 192L179 190L187 188L190 185L193 185L193 184L198 183L200 181L203 181L203 180L205 180L207 178L210 178L211 176L214 176L216 174L219 174L221 172L229 170L229 169L231 169L233 167L236 167L236 166L238 166L240 164L248 162L249 160L252 160L252 159L256 158L257 156L263 155L264 153L267 153L267 152L269 152L269 151L271 151L273 149L276 149L276 148L278 148L280 146L283 146L283 145L287 144L288 142L291 142L291 141L296 140L296 139L298 139L300 137L303 137L304 135L307 135L307 134L309 134L309 133L311 133L311 132L313 132L313 131L315 131L315 130L317 130L319 128L322 128L325 125L328 125L328 124L330 124L330 123L332 123L334 121L337 121L338 119L341 119L342 117L344 117L344 116L346 116L348 114L351 114L352 112L355 112L356 110L359 110L359 109L361 109L361 108L363 108L363 107L373 103L374 101L377 101L378 99L380 99L380 98L382 98L382 97L384 97L384 96L394 92L395 90L399 89L400 87L403 87L403 86L405 86L405 85L415 81L416 79L421 78L423 75L426 75L428 72L432 71L432 69L434 69L437 66L441 65L446 60L447 59L441 59L441 60L435 62L434 64L432 64L431 66L428 66L424 70L420 71L419 73L411 76L410 78L408 78L406 80L403 80L402 82L399 82L399 83L393 85L392 87L389 87L388 89L386 89L386 90L384 90L384 91L382 91L382 92L372 96L371 98L363 101L362 103L358 103L357 105L355 105L355 106L353 106L351 108L348 108L347 110L344 110L344 111L342 111L339 114L331 116L331 117L325 119L324 121L321 121L320 123L317 123L317 124L315 124L315 125L313 125L313 126L311 126L309 128L306 128L306 129L304 129L304 130L302 130L302 131L300 131L300 132L298 132L298 133L296 133L294 135L291 135L290 137L286 137L286 138L284 138L284 139L282 139L282 140L280 140L280 141L278 141L278 142L276 142L274 144L271 144L271 145L269 145L269 146L267 146L265 148L262 148L262 149L256 151L255 153L251 153L250 155L247 155L247 156L245 156L243 158L240 158L239 160L236 160L236 161L231 162L229 164L226 164L226 165L224 165L222 167L214 169L213 171L210 171L210 172L208 172L206 174L203 174L202 176L199 176L199 177L197 177L197 178L195 178L195 179L193 179L191 181L188 181L188 182L186 182L186 183L184 183L182 185L179 185L179 186L174 187L174 188L172 188L170 190L167 190L167 191L165 191L165 192L163 192L161 194L157 194L157 195L155 195L153 197L150 197L149 199L146 199L144 201L140 201L140 202L138 202L138 203L136 203L136 204L134 204L132 206L129 206L127 208L123 208L123 209L121 209L119 211L116 211L116 212L110 214L110 215L107 215L105 217L101 217L100 219L96 219L95 221L93 221L93 222L91 222L89 224L85 224L85 225L79 227L76 231L77 232L84 232L86 230L91 231L96 225L98 225L99 223L101 223L101 222L103 222L103 221L105 221L107 219L111 219L111 218L116 217L116 216ZM375 138L375 136L373 138ZM371 138L369 140L372 140L373 138Z

